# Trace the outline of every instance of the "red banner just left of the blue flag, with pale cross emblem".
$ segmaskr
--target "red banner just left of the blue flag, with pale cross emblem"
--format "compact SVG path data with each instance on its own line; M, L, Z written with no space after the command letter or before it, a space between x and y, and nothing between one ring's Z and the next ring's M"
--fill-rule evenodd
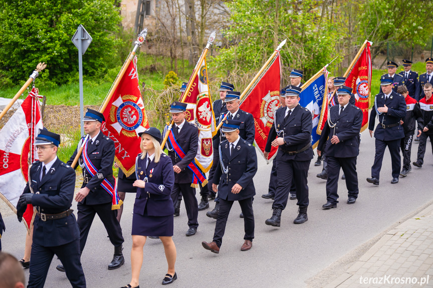
M254 143L262 155L269 130L273 124L275 110L279 107L280 85L281 61L279 52L277 52L273 62L261 75L255 86L250 90L250 93L242 99L242 103L239 106L240 109L251 113L254 117ZM277 150L277 147L272 147L268 158L271 159ZM266 161L268 160L266 159Z

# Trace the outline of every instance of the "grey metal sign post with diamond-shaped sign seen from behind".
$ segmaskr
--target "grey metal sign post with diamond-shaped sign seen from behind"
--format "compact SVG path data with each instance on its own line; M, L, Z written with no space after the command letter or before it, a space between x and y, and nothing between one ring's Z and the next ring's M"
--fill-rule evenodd
M78 26L77 31L75 31L72 37L72 43L78 48L78 74L80 79L80 127L81 127L81 137L84 136L83 122L84 118L84 104L83 104L83 55L86 53L87 48L92 42L92 37L84 29L82 25Z

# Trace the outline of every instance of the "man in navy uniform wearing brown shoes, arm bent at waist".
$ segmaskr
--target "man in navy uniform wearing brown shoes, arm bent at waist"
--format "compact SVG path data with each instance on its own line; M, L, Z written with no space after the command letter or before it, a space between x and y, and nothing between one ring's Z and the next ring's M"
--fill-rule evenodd
M227 218L234 201L238 201L244 215L244 243L242 251L251 249L254 238L252 197L255 195L253 177L257 172L257 155L254 146L239 137L241 121L227 119L221 128L226 140L219 146L221 169L215 171L213 190L220 198L219 213L213 241L203 241L205 249L219 253ZM219 183L219 188L217 187Z

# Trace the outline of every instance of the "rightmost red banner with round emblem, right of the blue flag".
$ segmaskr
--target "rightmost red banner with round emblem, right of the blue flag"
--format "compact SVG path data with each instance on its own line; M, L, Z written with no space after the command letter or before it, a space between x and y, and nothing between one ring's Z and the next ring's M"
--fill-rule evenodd
M368 108L370 107L370 88L371 88L371 42L367 42L364 51L353 66L352 71L347 77L344 85L353 89L355 94L356 107L362 110L362 128L364 131L368 126Z

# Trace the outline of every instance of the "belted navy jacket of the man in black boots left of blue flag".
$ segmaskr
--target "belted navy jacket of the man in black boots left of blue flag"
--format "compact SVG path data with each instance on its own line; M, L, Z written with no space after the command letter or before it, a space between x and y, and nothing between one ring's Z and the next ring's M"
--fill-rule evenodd
M307 108L301 105L296 106L284 123L285 111L285 109L275 111L276 129L282 131L278 137L284 135L285 141L285 144L278 147L277 159L282 161L307 161L313 159L313 148L311 146L307 150L295 155L288 155L283 152L299 151L309 143L311 144L311 131L313 130L313 117Z

